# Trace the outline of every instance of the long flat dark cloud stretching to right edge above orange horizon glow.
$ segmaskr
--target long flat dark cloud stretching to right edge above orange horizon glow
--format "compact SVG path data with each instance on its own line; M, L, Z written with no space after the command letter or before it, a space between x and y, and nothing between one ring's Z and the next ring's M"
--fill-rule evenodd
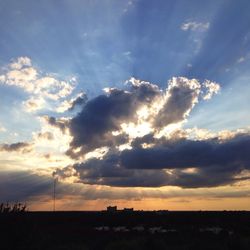
M69 168L75 171L79 182L87 184L183 188L233 184L249 178L238 176L243 170L250 170L250 135L225 141L166 141L152 148L106 154L102 159L92 158ZM62 173L63 170L58 172L63 176Z

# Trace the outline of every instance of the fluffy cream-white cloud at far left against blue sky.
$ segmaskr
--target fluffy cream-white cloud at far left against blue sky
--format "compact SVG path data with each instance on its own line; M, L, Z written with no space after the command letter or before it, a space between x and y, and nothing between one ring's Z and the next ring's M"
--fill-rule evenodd
M29 94L28 100L24 101L29 112L43 109L49 102L68 97L75 87L74 79L66 82L45 74L34 67L28 57L19 57L3 69L0 82L21 88Z

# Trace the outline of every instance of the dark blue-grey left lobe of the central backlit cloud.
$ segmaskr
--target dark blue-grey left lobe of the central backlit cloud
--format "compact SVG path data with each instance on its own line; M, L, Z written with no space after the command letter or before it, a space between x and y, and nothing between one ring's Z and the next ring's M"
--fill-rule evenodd
M84 154L99 147L124 144L127 136L113 135L124 122L136 122L136 111L141 105L149 105L161 91L155 85L132 85L130 91L110 89L108 95L100 95L86 103L82 111L69 123L73 140L68 154L81 147Z

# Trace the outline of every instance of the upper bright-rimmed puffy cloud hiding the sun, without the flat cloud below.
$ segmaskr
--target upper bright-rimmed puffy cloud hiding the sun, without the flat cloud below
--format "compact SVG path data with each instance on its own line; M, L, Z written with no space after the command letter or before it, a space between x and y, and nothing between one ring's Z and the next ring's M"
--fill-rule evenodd
M157 85L131 78L126 90L107 88L106 94L86 102L67 126L73 139L68 154L74 158L101 147L119 147L147 133L182 123L212 82L174 77L163 91ZM217 86L215 84L215 86ZM51 118L52 119L52 118ZM53 121L52 121L53 120ZM50 124L57 124L52 119Z

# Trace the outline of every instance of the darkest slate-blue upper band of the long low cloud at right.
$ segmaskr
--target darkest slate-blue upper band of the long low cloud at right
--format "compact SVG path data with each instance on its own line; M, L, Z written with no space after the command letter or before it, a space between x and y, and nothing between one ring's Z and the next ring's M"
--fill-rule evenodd
M134 148L121 153L121 163L132 169L164 169L238 165L250 167L250 136L238 135L220 141L181 139L152 148Z

